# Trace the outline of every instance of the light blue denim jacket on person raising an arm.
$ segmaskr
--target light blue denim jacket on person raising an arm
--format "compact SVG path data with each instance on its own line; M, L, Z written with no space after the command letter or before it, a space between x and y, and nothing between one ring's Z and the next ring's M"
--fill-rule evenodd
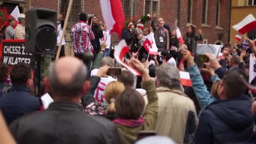
M216 98L212 97L211 93L207 91L207 87L203 82L202 75L200 74L196 64L194 64L192 67L187 67L187 70L192 81L192 88L202 111L208 107L209 104L215 101ZM219 80L219 77L217 75L213 75L211 76L211 80L215 82L216 80Z

